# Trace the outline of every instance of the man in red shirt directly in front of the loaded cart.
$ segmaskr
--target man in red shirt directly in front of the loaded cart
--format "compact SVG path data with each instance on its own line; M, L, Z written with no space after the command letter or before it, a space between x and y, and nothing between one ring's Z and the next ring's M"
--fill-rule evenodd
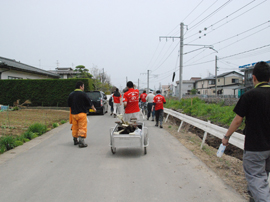
M130 121L131 118L140 119L139 90L134 89L132 81L127 82L127 92L124 93L123 103L125 108L124 119Z

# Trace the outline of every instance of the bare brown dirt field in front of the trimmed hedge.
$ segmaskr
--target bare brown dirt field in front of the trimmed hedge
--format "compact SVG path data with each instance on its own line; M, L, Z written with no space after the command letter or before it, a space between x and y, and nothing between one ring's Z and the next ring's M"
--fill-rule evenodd
M0 112L0 137L2 135L21 135L33 123L45 124L52 128L53 123L69 119L69 111L21 109Z

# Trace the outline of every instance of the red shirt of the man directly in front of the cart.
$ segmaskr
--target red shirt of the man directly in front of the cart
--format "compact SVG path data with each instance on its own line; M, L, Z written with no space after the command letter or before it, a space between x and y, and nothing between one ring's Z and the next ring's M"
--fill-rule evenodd
M126 114L139 112L139 90L130 88L124 93L123 102L127 102L127 106L125 108Z

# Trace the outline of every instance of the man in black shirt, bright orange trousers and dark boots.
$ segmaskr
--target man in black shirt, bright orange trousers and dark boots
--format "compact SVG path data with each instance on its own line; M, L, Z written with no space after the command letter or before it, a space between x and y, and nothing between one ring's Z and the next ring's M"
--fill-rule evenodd
M74 145L79 144L79 147L82 148L88 146L84 142L87 136L87 111L89 108L92 108L96 112L96 109L87 94L83 92L84 83L78 81L75 88L76 89L69 94L68 106L71 108ZM79 142L77 138L79 138Z

